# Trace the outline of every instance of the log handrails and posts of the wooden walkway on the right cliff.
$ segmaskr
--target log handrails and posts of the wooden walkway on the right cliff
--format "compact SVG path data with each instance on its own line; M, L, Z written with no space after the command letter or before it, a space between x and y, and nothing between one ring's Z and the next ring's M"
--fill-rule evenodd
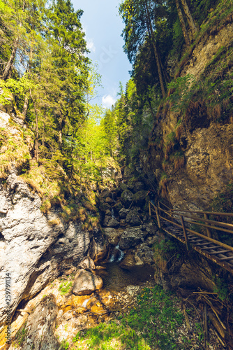
M215 246L210 246L209 248L224 248L225 250L218 251L217 255L220 253L227 253L230 256L223 257L221 255L220 260L230 261L233 260L233 246L229 244L225 244L223 241L220 241L218 239L218 232L224 232L230 236L233 235L233 225L231 223L224 223L223 218L233 218L232 213L220 213L220 212L214 212L214 211L190 211L190 210L183 210L183 209L171 209L170 207L167 207L167 205L162 204L158 202L157 205L149 202L149 215L153 216L153 213L156 213L156 220L158 223L158 228L162 229L163 225L172 224L172 227L174 228L173 231L177 231L176 228L181 229L179 231L179 237L181 237L183 232L183 239L182 241L185 242L187 249L190 248L189 246L189 237L192 237L192 244L194 244L193 237L200 237L200 239L204 239L204 242L208 244L212 243ZM212 218L210 218L210 216ZM222 217L220 220L213 219L214 217ZM202 228L202 233L197 232L195 229L192 228L192 225L197 225L200 228ZM169 233L169 232L168 232ZM172 232L170 232L172 235ZM213 239L213 234L215 235L216 239ZM173 235L175 237L175 235ZM181 240L181 239L180 239ZM228 242L227 242L228 243ZM233 236L232 236L232 243L233 243ZM230 243L231 244L231 243ZM206 246L206 244L197 244L197 246ZM196 249L197 250L197 249ZM204 250L204 248L202 249ZM200 251L200 248L198 248L198 251ZM230 252L230 254L229 254ZM203 253L203 252L201 252ZM212 253L213 254L213 253ZM206 255L204 253L204 255ZM218 257L217 257L218 258ZM211 259L212 260L212 259ZM216 261L215 261L216 262ZM217 262L218 263L218 262ZM221 264L222 265L222 264ZM230 264L232 265L232 264ZM233 266L233 265L232 265Z

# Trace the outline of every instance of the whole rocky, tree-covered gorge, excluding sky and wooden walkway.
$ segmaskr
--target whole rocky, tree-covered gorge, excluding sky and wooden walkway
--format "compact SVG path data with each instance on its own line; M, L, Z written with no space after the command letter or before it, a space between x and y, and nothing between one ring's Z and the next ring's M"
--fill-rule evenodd
M56 16L56 6L45 11L46 55L25 45L26 78L13 62L6 71L14 43L6 52L0 47L0 349L232 350L232 274L187 239L168 235L149 204L167 206L167 217L174 209L216 211L232 229L232 217L220 215L233 210L232 0L188 0L198 22L193 29L186 1L140 0L136 9L122 1L126 22L127 11L146 10L138 29L148 30L150 18L154 27L134 52L126 92L121 88L106 111L89 104L96 77L86 49L76 46L86 45L78 29L82 10L66 0L52 3L58 8ZM59 38L52 50L62 26L50 27L62 4L78 19L64 21L73 26L70 40L79 31L80 37L67 45ZM1 21L17 13L4 6L0 0ZM22 24L15 23L26 33L24 6L30 12L24 1ZM137 20L123 33L130 36ZM1 21L0 34L8 27ZM182 224L179 215L173 219ZM212 238L232 246L226 230L218 236L206 220ZM202 221L187 222L206 237Z

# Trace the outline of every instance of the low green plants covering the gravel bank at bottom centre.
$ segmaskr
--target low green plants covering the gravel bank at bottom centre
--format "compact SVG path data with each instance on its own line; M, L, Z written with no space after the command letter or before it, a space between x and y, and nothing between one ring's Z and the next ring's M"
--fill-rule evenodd
M150 350L155 345L160 349L179 349L176 330L183 323L183 314L176 303L176 297L160 286L144 288L128 315L121 316L119 321L78 332L73 342L76 349L80 349L80 341L93 350L114 350L121 346L126 350Z

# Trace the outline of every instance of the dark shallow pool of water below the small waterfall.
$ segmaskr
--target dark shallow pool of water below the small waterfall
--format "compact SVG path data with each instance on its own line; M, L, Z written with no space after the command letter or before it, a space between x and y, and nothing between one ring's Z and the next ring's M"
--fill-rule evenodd
M103 278L105 290L120 292L129 285L139 286L146 281L153 280L153 268L151 266L134 267L133 269L121 269L117 262L105 265L105 270L99 270L98 275Z

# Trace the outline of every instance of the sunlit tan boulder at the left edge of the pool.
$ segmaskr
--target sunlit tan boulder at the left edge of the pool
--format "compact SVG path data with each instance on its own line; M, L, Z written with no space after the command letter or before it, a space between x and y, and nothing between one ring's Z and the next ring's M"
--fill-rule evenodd
M79 269L75 275L72 293L75 295L89 295L103 287L103 279L85 269Z

